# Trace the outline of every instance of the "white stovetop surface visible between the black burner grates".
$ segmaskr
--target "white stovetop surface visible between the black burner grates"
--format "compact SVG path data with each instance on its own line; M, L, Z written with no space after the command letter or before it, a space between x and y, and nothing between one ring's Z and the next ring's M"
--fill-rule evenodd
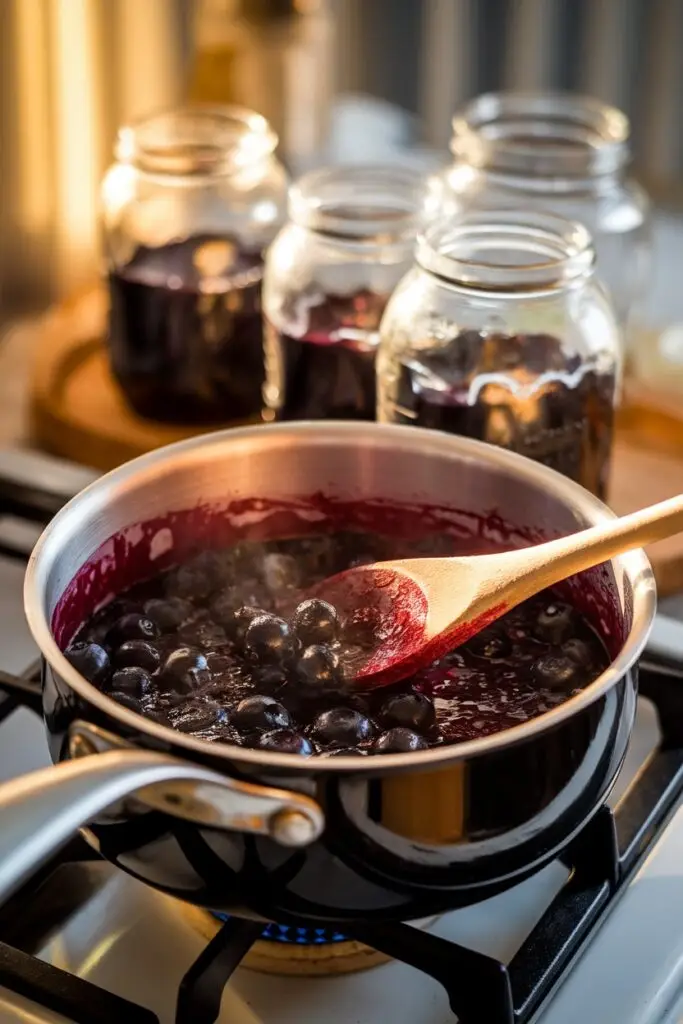
M5 457L0 453L0 472ZM15 456L10 456L15 460ZM19 460L20 461L20 460ZM24 462L20 461L24 465ZM13 469L16 470L14 462ZM48 478L54 503L87 474L40 460L32 472ZM70 475L72 474L72 475ZM0 665L24 671L36 657L22 610L24 555L39 530L27 523L19 490L0 504ZM47 502L49 505L49 501ZM45 510L49 514L49 509ZM18 514L17 514L18 513ZM39 518L39 517L37 517ZM667 610L683 620L681 602ZM680 648L683 625L657 627L655 641ZM683 675L681 677L683 685ZM636 728L612 806L657 741L652 706L639 701ZM30 711L15 711L0 726L0 780L48 764L43 727ZM66 927L38 950L41 958L153 1010L161 1024L175 1015L178 984L206 945L184 905L96 862L88 872L91 895ZM442 916L434 935L508 962L560 890L567 870L551 864L531 879L473 907ZM62 880L67 884L67 880ZM56 883L55 883L56 884ZM681 1024L683 1021L683 806L672 816L552 999L542 1024ZM20 927L20 908L17 927ZM444 990L409 966L390 963L336 978L285 978L241 968L225 989L221 1024L453 1024ZM69 1024L0 986L0 1022ZM482 1019L482 1024L488 1024Z

